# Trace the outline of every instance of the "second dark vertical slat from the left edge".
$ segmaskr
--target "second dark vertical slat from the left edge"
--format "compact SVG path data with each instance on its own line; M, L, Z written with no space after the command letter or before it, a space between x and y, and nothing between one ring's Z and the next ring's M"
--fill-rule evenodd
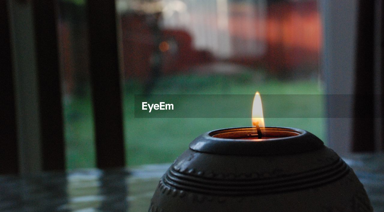
M42 169L65 169L56 1L32 1L40 111Z

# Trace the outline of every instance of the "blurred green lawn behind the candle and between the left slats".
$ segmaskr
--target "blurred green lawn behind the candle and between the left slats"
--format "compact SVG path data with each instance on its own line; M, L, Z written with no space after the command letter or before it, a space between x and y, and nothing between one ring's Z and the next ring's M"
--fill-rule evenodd
M323 94L316 80L278 81L255 79L253 75L236 77L184 75L162 77L156 84L154 94ZM134 94L141 94L143 85L127 81L124 86L123 113L126 142L126 160L129 166L147 163L170 163L188 144L200 134L227 127L250 126L250 118L134 118ZM182 98L182 95L180 95ZM182 99L180 99L182 101ZM292 107L285 101L284 112L301 114L310 112L315 105ZM228 108L236 108L236 102L227 102ZM252 102L250 102L250 105ZM263 102L264 110L268 102ZM65 139L67 168L95 167L94 129L90 95L71 96L65 101ZM321 109L324 113L324 107ZM324 118L266 118L267 126L295 127L308 130L326 143Z

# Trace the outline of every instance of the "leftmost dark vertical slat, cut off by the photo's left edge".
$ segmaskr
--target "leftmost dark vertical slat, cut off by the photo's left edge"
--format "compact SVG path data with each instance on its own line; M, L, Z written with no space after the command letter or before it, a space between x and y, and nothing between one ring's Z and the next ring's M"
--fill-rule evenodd
M18 145L10 26L6 0L0 0L0 174L18 173Z

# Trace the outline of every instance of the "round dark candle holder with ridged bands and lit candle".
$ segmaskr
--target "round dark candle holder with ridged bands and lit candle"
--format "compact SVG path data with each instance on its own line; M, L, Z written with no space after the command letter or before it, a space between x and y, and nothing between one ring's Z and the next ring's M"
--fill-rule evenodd
M372 211L353 170L323 141L295 128L204 133L162 176L157 211Z

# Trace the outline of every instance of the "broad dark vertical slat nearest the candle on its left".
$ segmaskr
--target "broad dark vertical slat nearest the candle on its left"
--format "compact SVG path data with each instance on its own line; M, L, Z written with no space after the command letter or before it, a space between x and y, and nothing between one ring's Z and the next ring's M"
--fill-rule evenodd
M98 168L124 166L115 1L89 0L89 66Z

